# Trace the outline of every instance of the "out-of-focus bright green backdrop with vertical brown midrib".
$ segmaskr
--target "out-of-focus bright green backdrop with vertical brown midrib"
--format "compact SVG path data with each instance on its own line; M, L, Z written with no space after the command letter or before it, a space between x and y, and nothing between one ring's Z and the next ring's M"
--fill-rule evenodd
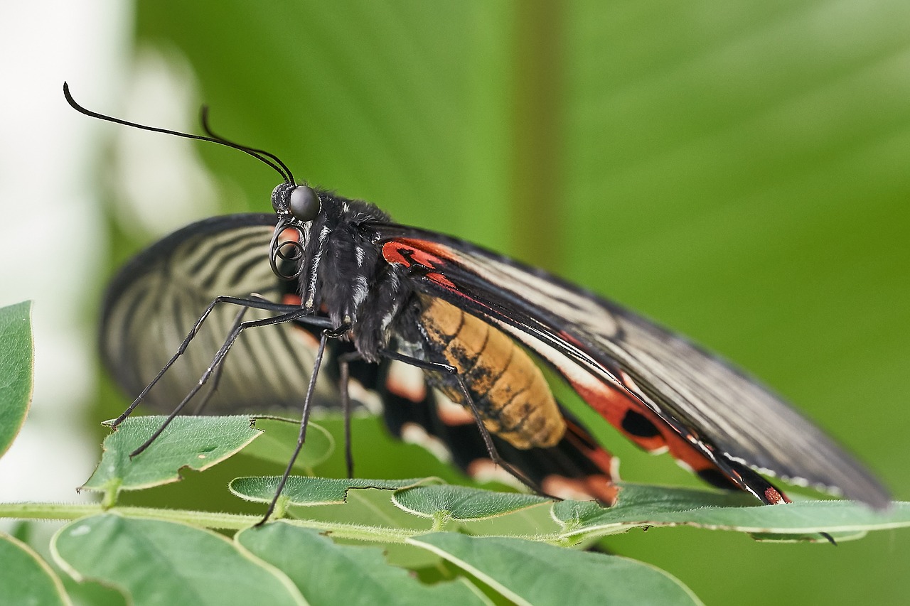
M298 178L691 336L910 498L910 4L158 0L135 19L131 77L165 66L186 116L204 101L219 133ZM148 107L154 91L132 98ZM217 208L190 214L268 210L276 175L194 149ZM128 177L153 199L167 178ZM111 182L109 271L161 235ZM625 479L688 481L604 435ZM608 545L707 603L904 603L907 539L677 529Z

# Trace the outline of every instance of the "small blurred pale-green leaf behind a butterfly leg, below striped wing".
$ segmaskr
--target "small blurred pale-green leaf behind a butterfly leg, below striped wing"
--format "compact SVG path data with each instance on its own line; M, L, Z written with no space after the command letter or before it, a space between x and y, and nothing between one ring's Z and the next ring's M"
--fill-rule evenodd
M243 453L262 460L287 465L297 447L300 421L281 417L256 417L253 427L262 431L262 436L250 444ZM312 421L307 426L307 441L300 450L294 467L309 471L329 459L335 449L335 439L329 431Z

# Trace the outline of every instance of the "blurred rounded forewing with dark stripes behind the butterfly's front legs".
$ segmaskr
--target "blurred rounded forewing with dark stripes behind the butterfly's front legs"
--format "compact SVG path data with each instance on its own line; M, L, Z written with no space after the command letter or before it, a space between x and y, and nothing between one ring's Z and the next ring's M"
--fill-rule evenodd
M126 394L136 396L146 387L217 296L256 293L281 301L282 283L268 263L275 221L272 214L209 218L159 240L120 269L106 292L100 346ZM229 304L213 309L177 364L149 392L148 405L170 410L187 395L240 310ZM248 309L243 319L274 313ZM299 406L312 368L313 340L289 323L245 330L229 351L207 410L223 414Z

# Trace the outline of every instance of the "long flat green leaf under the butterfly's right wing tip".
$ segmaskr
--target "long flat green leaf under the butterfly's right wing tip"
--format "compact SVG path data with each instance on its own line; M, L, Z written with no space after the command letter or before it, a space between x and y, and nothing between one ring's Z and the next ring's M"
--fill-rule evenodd
M777 536L777 540L824 540L818 532L846 540L866 530L910 526L910 503L895 502L879 512L847 500L797 500L785 505L753 503L742 493L623 484L612 508L591 501L561 501L553 517L567 539L624 532L636 526L681 524L714 530L740 530ZM794 536L795 535L795 536ZM762 537L767 538L767 537Z

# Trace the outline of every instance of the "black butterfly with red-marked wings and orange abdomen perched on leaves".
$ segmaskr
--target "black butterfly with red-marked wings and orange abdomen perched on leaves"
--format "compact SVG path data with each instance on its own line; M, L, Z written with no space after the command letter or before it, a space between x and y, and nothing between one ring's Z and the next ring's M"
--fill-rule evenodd
M788 502L768 475L876 509L889 502L771 390L631 310L298 184L278 157L207 126L203 137L136 125L65 94L89 116L232 146L282 176L273 212L199 221L117 273L101 348L121 387L139 393L118 420L140 400L182 408L211 380L217 394L204 399L219 411L303 402L305 427L320 402L349 411L353 391L389 429L444 446L473 475L506 470L542 494L610 504L616 461L553 397L548 367L626 438L713 486Z

